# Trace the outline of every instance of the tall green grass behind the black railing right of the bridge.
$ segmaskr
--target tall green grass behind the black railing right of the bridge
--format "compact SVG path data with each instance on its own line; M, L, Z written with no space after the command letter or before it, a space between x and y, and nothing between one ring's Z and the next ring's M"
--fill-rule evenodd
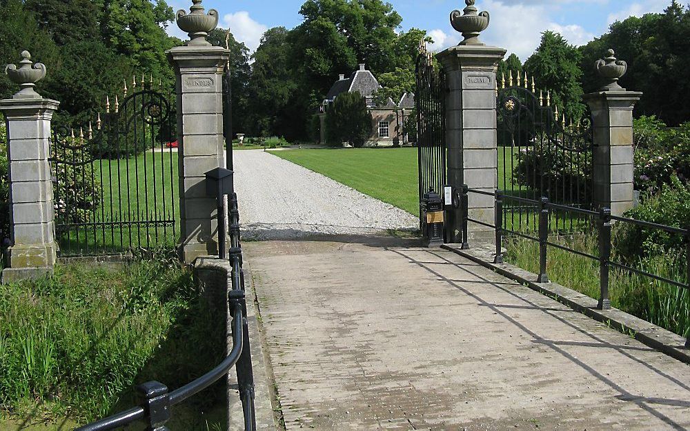
M598 256L598 245L593 235L552 242ZM539 272L539 245L527 239L506 239L506 261L530 272ZM549 248L546 269L551 281L599 299L599 262L577 254ZM632 259L613 252L612 261L625 263L639 270L687 282L687 264L679 256L654 256ZM631 274L629 271L611 268L609 297L613 307L633 314L683 337L690 335L690 292L649 277Z

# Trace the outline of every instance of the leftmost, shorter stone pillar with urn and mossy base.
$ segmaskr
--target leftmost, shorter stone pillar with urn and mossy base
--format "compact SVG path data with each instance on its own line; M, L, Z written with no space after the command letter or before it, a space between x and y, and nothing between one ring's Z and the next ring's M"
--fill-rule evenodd
M43 99L35 90L46 77L46 66L21 53L19 67L5 72L20 90L0 101L5 116L10 182L10 248L3 282L41 277L57 260L55 209L50 173L50 121L59 102Z

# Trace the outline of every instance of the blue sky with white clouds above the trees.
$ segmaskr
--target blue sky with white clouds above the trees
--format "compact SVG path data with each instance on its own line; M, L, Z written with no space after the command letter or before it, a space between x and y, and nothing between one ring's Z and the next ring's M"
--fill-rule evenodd
M462 39L451 28L451 10L464 8L463 0L388 0L403 18L402 30L416 27L428 30L442 50ZM175 10L188 9L191 0L168 0ZM259 45L266 29L293 28L302 17L304 0L204 0L204 6L221 15L221 26L230 27L235 38L251 50ZM491 13L491 25L484 42L507 48L523 61L538 46L540 33L555 30L574 45L581 45L607 31L611 23L631 15L661 12L671 0L477 0L480 10ZM173 23L170 34L184 37ZM612 47L615 49L615 47Z

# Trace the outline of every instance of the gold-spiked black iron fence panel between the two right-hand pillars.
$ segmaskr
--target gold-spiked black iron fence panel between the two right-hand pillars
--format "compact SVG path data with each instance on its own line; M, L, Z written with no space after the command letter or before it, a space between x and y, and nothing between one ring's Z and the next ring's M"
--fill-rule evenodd
M593 209L591 115L567 119L552 106L550 92L512 74L497 91L499 188L505 196L504 226L537 228L538 206L526 199ZM517 199L515 199L517 198ZM553 232L574 232L580 220L566 211L550 222Z

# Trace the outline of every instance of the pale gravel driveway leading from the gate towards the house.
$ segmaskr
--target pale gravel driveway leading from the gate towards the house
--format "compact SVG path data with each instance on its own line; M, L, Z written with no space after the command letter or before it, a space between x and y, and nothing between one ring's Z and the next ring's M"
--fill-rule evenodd
M246 239L413 230L412 214L264 152L235 151L235 189Z

